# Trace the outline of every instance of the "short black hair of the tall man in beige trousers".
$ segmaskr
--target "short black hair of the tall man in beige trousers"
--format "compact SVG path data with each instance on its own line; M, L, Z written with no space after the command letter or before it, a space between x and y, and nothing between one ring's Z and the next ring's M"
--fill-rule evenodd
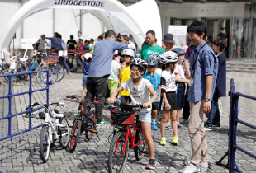
M201 21L194 21L190 26L187 27L187 33L194 32L197 33L197 35L202 35L202 33L205 33L203 36L203 40L206 40L207 35L207 28L206 24L204 24Z

